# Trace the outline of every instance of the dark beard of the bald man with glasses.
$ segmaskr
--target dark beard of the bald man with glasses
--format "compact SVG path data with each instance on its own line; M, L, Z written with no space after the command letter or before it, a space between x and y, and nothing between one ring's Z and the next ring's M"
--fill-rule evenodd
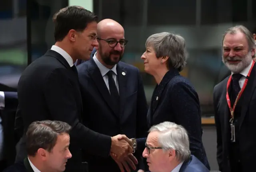
M115 50L111 50L109 53L103 53L100 45L98 47L98 52L100 54L100 57L102 58L102 61L108 66L116 65L122 59L122 55L123 55L122 51L115 51ZM116 57L111 59L111 55L116 55Z

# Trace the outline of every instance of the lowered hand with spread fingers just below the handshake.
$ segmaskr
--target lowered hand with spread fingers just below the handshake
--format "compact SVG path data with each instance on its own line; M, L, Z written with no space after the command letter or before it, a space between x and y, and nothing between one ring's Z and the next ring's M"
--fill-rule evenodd
M125 157L122 162L116 159L116 154L111 153L110 156L116 161L116 164L119 166L121 172L124 172L124 168L126 169L127 172L130 172L130 168L128 164L130 165L130 167L132 167L133 170L136 169L135 164L138 164L138 160L135 158L133 154L128 154L128 156Z

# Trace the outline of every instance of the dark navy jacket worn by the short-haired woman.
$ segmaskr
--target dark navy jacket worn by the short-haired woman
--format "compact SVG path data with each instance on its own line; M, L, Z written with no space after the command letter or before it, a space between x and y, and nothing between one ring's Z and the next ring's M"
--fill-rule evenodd
M148 123L150 126L164 121L182 125L188 131L191 154L210 169L202 143L201 109L196 90L180 76L178 70L170 69L154 89Z

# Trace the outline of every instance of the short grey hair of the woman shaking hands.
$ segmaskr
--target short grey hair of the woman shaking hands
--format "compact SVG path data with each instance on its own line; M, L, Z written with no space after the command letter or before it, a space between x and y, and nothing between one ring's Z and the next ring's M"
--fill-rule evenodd
M169 57L168 68L176 68L182 71L186 65L186 43L180 35L162 32L148 37L146 47L152 46L156 57Z

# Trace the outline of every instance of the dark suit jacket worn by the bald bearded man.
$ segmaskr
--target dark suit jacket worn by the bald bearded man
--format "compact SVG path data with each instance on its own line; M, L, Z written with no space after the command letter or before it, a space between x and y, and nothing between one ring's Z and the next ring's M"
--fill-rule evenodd
M83 109L86 109L83 113L84 125L109 136L124 134L128 138L146 137L148 108L140 72L134 66L119 62L117 73L120 92L119 113L114 111L115 107L111 104L108 88L92 57L78 66L81 93L84 99ZM142 156L142 151L136 151L138 160ZM94 155L85 152L89 172L120 171L111 157Z

